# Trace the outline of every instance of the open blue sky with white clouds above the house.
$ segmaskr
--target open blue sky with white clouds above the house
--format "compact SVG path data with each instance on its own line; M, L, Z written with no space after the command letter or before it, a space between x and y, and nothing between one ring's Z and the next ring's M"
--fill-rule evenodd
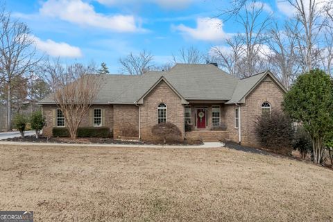
M280 1L264 3L267 13L288 14ZM111 73L130 52L151 51L162 65L182 47L209 51L241 32L232 19L216 18L227 0L7 0L6 6L31 28L39 51L66 62L106 62Z

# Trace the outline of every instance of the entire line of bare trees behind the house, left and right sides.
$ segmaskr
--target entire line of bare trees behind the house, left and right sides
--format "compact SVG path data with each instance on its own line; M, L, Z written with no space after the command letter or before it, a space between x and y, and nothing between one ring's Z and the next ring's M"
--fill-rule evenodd
M233 8L221 13L228 22L239 23L241 32L213 46L208 52L182 48L169 62L157 65L149 51L119 58L123 74L143 74L148 70L167 71L176 63L216 62L230 75L244 78L270 69L289 89L302 73L314 68L332 76L333 3L314 0L287 0L293 16L278 20L259 1L236 0ZM36 52L31 30L0 7L0 103L6 106L6 128L11 128L12 112L37 108L35 103L55 92L60 76L108 74L105 63L67 65Z

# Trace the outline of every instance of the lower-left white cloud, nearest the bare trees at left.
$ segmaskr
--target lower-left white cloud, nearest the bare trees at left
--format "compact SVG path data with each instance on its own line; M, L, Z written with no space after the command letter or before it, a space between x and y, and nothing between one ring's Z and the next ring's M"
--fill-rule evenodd
M71 46L66 42L54 42L53 40L43 41L35 35L31 35L38 50L53 57L78 58L82 56L80 48Z

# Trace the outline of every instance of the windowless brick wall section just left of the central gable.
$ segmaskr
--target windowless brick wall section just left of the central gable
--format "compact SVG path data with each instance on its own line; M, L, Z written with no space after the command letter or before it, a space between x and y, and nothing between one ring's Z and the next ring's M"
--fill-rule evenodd
M136 105L114 105L113 121L114 138L139 136L139 108Z

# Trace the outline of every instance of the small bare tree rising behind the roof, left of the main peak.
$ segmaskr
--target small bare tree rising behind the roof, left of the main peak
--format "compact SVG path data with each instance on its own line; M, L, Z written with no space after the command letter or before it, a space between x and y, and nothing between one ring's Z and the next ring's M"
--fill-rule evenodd
M142 75L153 66L153 55L144 50L138 55L130 53L125 58L120 58L119 62L122 74Z

